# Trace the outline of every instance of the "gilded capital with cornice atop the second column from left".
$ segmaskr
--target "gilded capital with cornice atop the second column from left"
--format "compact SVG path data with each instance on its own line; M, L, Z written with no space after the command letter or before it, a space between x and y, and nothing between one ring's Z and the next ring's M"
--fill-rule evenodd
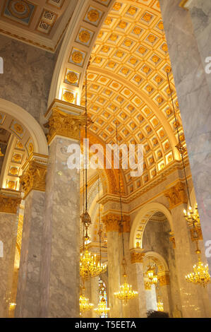
M45 177L47 173L47 156L32 153L23 165L23 174L20 177L20 188L25 197L30 191L45 191Z

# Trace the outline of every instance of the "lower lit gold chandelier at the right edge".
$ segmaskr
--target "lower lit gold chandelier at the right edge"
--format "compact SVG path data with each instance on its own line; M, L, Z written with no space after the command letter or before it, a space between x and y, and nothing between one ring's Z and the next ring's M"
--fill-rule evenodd
M209 267L208 264L204 264L201 261L200 249L198 249L198 241L196 242L195 253L198 255L198 263L193 266L193 272L186 275L186 280L188 283L206 287L207 284L211 282Z

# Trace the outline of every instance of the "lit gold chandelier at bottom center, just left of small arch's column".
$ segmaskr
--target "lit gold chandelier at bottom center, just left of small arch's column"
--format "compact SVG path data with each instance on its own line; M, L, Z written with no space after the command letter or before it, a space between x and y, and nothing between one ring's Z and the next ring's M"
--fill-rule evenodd
M123 256L121 265L123 266L123 284L120 285L119 292L114 292L114 297L117 297L119 300L123 301L125 304L128 304L128 300L134 299L138 296L138 292L133 290L132 285L127 283L126 275L126 259Z

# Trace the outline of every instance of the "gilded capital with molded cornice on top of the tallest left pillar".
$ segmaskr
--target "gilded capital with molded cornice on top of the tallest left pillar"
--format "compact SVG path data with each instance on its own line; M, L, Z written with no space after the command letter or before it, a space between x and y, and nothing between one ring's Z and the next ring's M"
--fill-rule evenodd
M83 111L84 108L78 105L54 100L45 114L47 123L44 126L49 129L47 134L48 143L50 144L55 136L79 140L80 126L85 124Z

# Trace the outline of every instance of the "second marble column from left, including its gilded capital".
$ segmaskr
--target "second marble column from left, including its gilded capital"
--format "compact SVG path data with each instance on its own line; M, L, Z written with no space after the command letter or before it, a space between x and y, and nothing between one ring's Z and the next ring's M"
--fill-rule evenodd
M40 268L44 224L44 189L47 156L32 154L20 177L25 193L20 268L15 316L38 317L40 312Z

